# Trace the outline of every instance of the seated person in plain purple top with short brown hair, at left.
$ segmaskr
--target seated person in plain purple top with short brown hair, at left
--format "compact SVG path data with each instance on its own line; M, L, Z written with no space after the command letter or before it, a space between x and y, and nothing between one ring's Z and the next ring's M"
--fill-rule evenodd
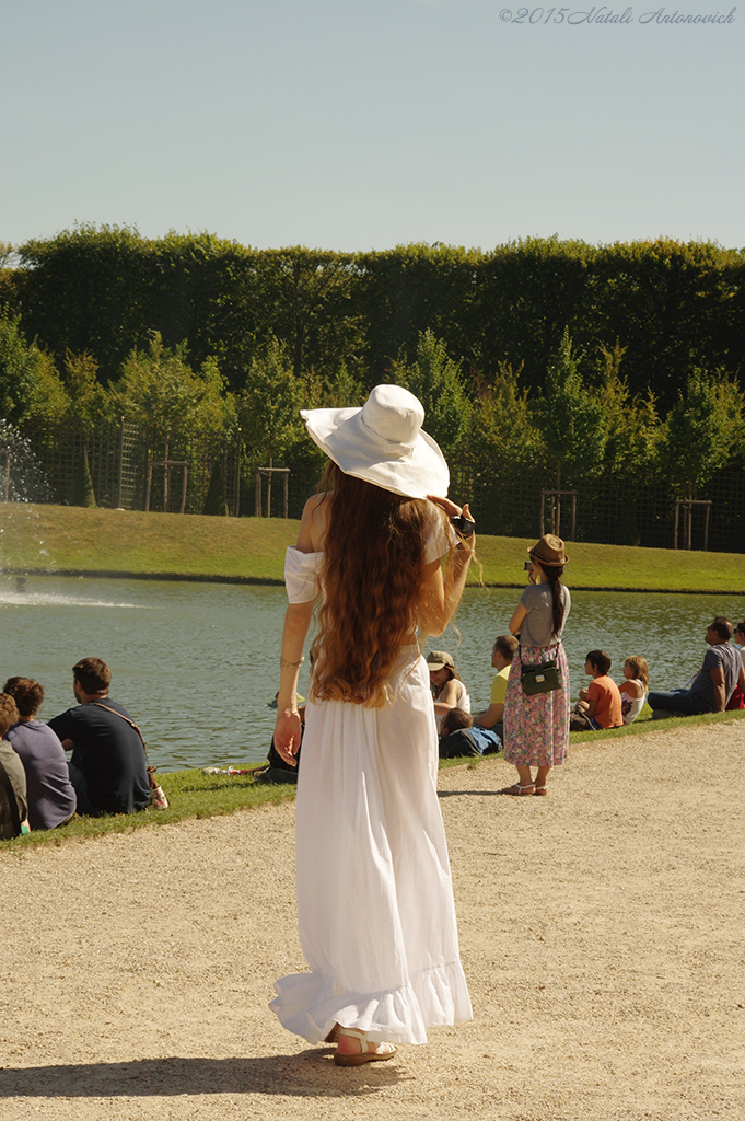
M75 813L75 791L59 739L36 713L44 686L30 677L10 677L3 689L16 702L19 721L6 739L20 757L28 789L28 819L32 830L54 830Z

